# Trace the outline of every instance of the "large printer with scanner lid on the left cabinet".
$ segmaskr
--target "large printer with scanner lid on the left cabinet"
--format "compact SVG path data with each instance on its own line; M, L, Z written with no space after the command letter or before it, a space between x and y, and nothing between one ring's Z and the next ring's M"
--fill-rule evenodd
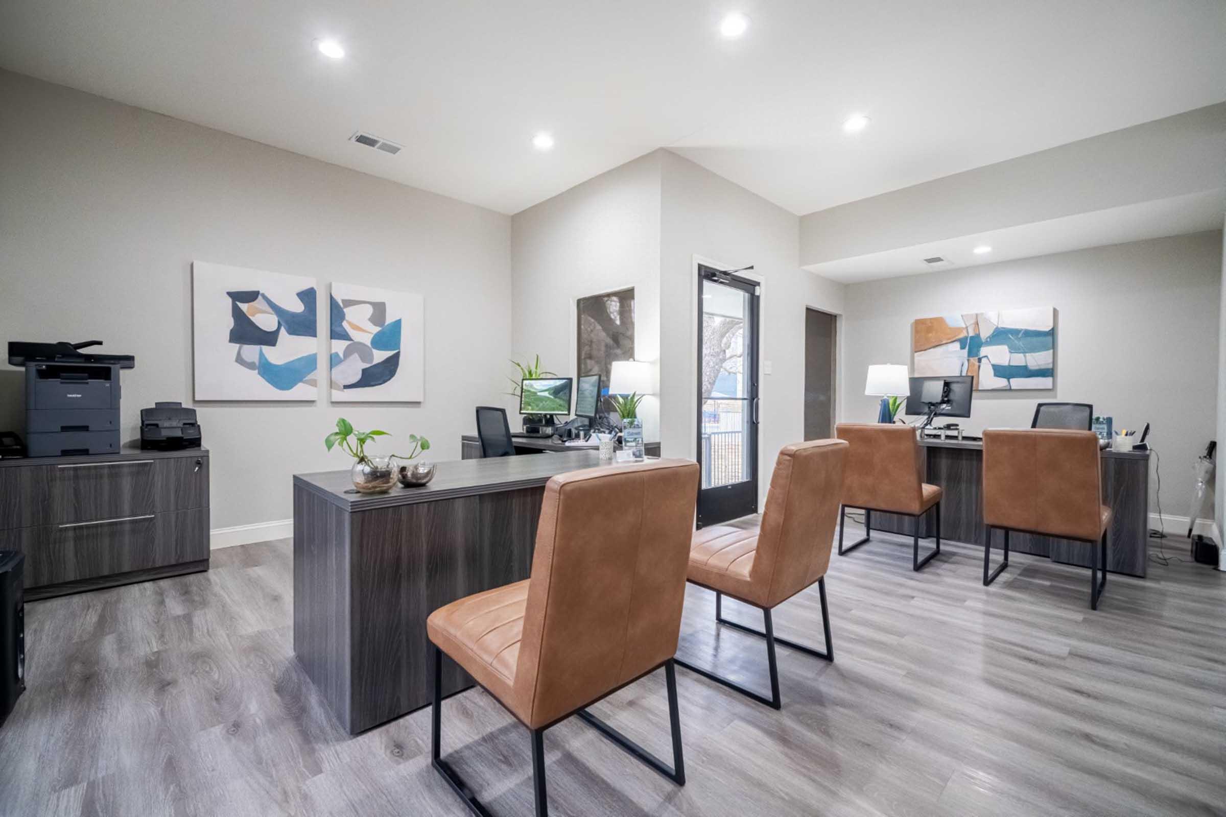
M81 352L101 343L9 343L9 363L26 367L28 456L119 451L119 370L136 358Z

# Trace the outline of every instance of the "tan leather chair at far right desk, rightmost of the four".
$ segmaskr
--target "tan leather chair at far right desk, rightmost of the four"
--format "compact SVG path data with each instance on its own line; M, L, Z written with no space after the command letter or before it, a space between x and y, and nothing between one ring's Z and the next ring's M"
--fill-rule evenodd
M983 432L983 585L1009 566L1009 532L1090 543L1090 609L1107 587L1111 508L1102 503L1102 467L1094 431L988 429ZM992 532L1004 530L1004 562L988 572ZM1097 545L1097 548L1095 546ZM1098 583L1098 567L1102 583Z

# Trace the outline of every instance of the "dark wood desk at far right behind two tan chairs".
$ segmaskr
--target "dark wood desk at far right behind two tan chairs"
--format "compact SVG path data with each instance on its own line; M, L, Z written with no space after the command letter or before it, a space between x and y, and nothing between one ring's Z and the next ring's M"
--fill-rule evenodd
M983 443L954 440L924 440L924 481L945 490L940 502L942 537L954 541L982 545L987 541L983 524ZM1111 543L1107 570L1129 576L1145 576L1149 562L1149 452L1102 452L1102 503L1112 510ZM933 521L921 521L920 535L933 534ZM911 535L911 517L873 513L873 529ZM993 548L1003 545L997 533ZM1079 541L1010 533L1009 550L1048 556L1052 561L1090 566L1090 546Z

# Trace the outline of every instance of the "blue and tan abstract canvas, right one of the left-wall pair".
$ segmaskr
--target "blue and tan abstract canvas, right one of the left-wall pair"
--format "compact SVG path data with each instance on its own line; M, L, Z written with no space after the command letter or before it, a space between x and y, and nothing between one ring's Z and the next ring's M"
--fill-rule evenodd
M422 296L333 283L329 301L332 402L421 402L425 338Z

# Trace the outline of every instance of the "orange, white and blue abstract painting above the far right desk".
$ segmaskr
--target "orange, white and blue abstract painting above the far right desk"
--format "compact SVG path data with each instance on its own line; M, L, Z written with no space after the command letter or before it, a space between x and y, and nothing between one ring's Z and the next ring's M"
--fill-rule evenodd
M1056 310L1004 309L922 317L911 325L916 377L970 375L975 388L1053 388Z

